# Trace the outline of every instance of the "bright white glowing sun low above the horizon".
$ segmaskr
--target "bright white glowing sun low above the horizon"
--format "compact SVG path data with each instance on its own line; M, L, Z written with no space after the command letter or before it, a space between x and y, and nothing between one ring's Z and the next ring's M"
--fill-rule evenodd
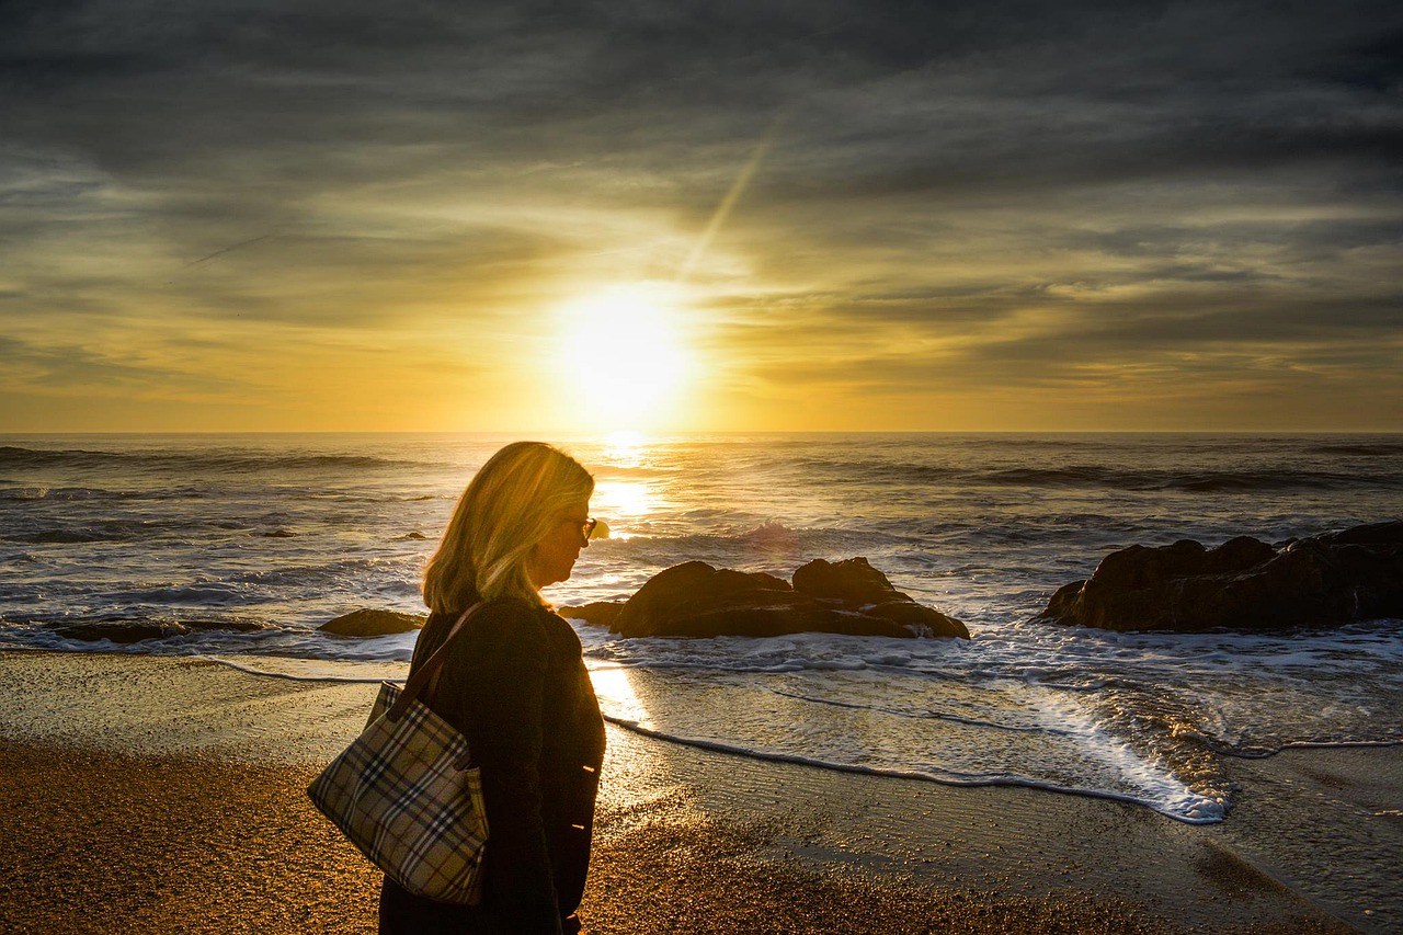
M657 428L678 416L693 371L678 306L666 285L636 284L561 309L560 364L591 428Z

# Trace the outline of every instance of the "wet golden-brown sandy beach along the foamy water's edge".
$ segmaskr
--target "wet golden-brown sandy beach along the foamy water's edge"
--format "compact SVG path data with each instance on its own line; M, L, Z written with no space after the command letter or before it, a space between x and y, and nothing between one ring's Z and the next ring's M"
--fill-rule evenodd
M368 684L0 653L0 929L370 932L303 789ZM1229 760L1228 820L702 751L609 729L586 931L1403 929L1403 748Z

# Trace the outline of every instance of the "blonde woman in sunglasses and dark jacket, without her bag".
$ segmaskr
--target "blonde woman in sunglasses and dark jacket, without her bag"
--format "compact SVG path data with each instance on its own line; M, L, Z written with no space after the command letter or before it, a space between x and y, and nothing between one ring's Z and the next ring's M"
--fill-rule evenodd
M515 442L467 486L424 574L432 614L412 672L463 611L429 708L467 737L487 803L483 901L380 889L380 932L578 932L605 730L579 637L540 588L570 577L595 522L595 480L568 455Z

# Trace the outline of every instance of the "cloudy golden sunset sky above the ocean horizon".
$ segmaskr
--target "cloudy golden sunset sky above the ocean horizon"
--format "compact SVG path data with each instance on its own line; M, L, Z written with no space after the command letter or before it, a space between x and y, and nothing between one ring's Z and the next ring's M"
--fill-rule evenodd
M1403 6L0 6L0 431L1403 431Z

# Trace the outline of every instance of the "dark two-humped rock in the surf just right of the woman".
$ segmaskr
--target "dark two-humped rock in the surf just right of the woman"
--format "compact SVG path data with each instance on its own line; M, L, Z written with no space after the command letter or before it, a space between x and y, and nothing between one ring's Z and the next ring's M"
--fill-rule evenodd
M609 629L622 636L780 636L805 632L969 636L960 621L922 606L892 588L866 559L822 564L826 571L815 569L803 576L798 571L794 574L796 583L817 583L814 587L819 594L804 594L790 587L788 581L763 571L713 569L704 562L678 564L638 588ZM831 581L842 587L829 587ZM854 587L864 597L878 594L882 599L849 599L828 592Z

